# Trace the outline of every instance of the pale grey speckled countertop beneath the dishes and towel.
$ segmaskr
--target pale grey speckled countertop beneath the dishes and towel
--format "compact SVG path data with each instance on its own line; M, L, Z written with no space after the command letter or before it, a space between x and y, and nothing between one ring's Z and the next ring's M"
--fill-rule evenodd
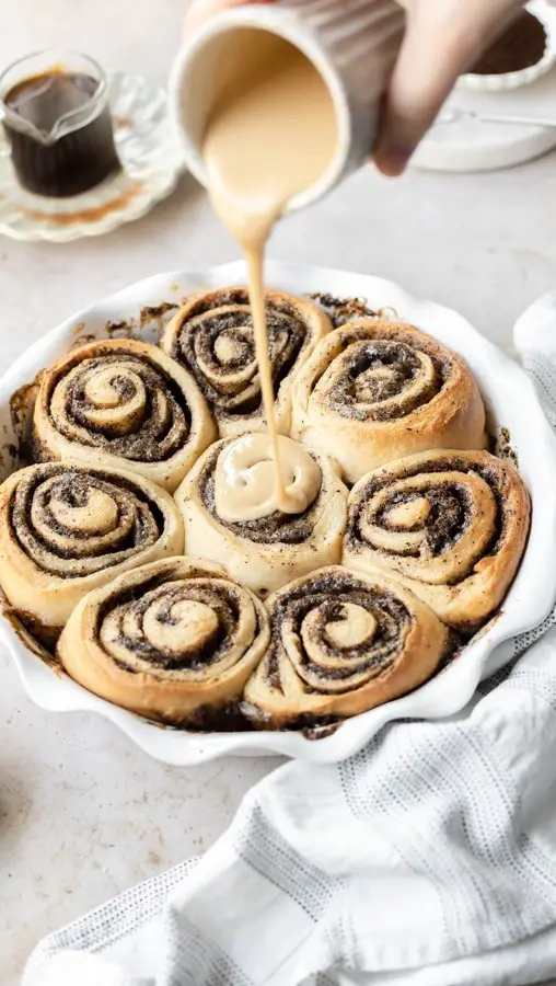
M0 0L0 65L53 44L163 81L183 0ZM283 222L269 254L395 279L459 309L509 346L517 316L556 280L556 158L484 175L366 169ZM187 176L144 219L68 245L0 239L2 367L81 307L234 248ZM323 287L326 287L325 285ZM151 761L92 715L36 709L0 653L0 984L19 982L46 932L205 850L242 794L278 760L196 769Z

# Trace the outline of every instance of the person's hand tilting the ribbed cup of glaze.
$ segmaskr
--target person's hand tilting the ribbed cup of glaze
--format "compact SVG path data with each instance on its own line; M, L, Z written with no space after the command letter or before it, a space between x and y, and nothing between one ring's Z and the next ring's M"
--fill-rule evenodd
M186 32L246 0L194 0ZM273 0L263 0L273 2ZM407 13L373 151L387 175L404 171L457 78L517 15L524 0L398 0Z

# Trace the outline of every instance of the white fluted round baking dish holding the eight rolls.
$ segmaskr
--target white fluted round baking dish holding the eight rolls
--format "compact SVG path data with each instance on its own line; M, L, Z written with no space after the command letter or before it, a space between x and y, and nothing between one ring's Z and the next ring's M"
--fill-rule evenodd
M91 695L70 678L55 674L22 643L12 624L0 617L0 641L15 661L27 693L38 706L56 711L97 712L118 725L148 754L167 764L199 764L225 754L269 753L334 763L361 749L391 720L451 715L463 708L485 675L510 660L512 638L541 622L556 596L556 498L546 495L546 491L556 485L556 438L525 372L456 312L409 295L391 282L280 263L269 263L266 276L270 286L293 294L325 291L336 297L366 298L373 309L392 307L401 318L461 353L482 389L490 429L496 432L503 427L510 434L521 474L532 495L531 535L521 569L499 615L456 661L412 695L348 720L321 738L293 732L201 734L161 727ZM161 306L165 307L164 302L175 306L187 293L201 286L222 287L244 282L242 263L161 274L100 301L53 329L0 380L0 426L4 436L5 465L9 465L10 445L14 440L10 413L12 393L67 352L76 337L104 337L107 332L126 331L130 326L150 339L157 318L163 317L158 317L157 311Z

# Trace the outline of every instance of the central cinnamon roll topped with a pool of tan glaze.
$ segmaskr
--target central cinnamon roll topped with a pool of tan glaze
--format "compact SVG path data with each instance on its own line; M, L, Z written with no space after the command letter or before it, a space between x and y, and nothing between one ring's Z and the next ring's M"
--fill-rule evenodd
M188 554L201 555L263 597L324 564L338 562L347 489L337 465L280 436L283 511L267 435L212 445L176 492Z

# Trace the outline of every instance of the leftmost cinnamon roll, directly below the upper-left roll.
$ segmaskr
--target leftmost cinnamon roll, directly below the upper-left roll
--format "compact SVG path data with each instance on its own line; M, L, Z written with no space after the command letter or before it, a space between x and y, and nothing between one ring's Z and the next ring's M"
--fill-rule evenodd
M170 494L124 470L50 462L0 486L0 583L42 640L56 639L90 589L183 547Z

